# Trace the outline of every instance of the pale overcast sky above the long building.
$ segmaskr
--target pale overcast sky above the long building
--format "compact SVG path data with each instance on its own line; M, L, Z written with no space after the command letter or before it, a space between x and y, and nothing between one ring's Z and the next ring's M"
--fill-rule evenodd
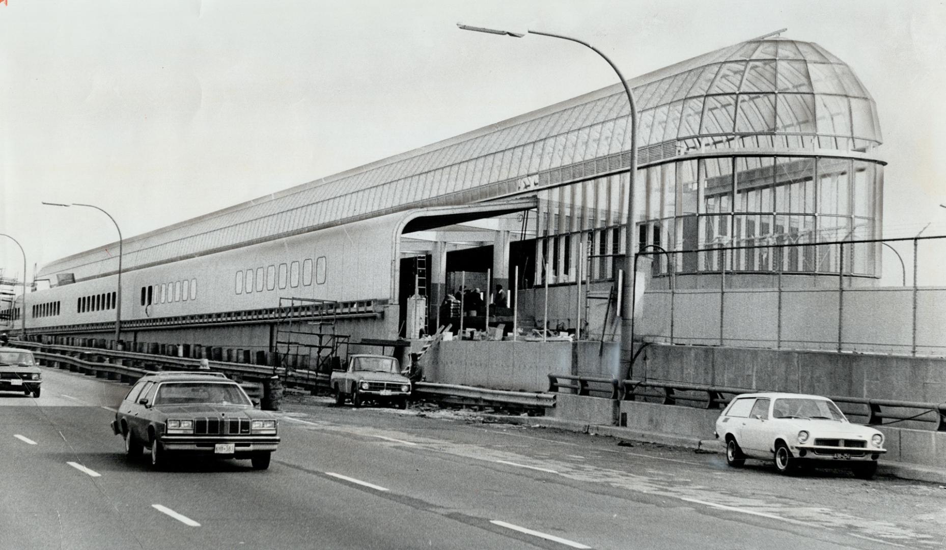
M902 0L8 0L0 233L31 277L116 240L100 213L41 201L96 204L131 237L616 81L578 44L457 22L582 38L628 78L787 27L878 103L885 236L946 235L946 8ZM0 267L22 265L0 238Z

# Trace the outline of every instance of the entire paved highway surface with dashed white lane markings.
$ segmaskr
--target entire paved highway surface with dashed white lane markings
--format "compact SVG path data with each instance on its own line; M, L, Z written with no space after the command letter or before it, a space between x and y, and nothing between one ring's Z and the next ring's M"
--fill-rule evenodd
M270 470L129 460L128 386L44 368L0 394L0 550L942 548L946 488L780 477L717 454L288 399Z

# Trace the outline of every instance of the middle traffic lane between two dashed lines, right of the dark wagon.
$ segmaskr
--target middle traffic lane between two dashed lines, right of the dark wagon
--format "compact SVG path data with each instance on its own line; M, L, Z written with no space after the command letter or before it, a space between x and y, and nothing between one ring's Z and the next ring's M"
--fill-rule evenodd
M287 431L293 423L308 434ZM406 495L412 506L516 523L595 548L629 541L636 548L730 548L734 537L755 548L867 547L780 518L708 513L673 494L641 490L654 482L625 472L586 469L579 479L519 452L303 418L287 418L281 430L291 443L280 450L280 464L313 462L391 488L385 498Z

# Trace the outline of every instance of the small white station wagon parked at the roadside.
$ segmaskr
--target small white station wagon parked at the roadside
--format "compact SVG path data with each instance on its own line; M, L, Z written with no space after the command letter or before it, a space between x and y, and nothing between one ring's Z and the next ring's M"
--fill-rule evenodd
M736 396L716 419L716 437L726 442L729 466L759 458L773 460L780 473L804 463L850 468L869 479L886 452L883 434L851 424L831 399L804 394Z

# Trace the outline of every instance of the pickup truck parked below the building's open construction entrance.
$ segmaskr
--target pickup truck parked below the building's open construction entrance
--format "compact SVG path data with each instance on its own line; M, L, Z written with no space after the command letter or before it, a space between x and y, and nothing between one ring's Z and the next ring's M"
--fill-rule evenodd
M397 360L385 355L350 355L348 367L332 372L329 384L338 405L351 399L356 407L374 401L406 409L411 397L411 381L401 374Z

